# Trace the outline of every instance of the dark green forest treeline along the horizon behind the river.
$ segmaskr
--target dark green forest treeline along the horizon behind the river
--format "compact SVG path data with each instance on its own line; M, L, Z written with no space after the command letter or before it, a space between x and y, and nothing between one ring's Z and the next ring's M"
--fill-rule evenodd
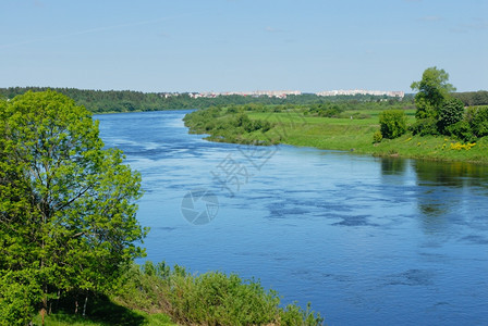
M13 99L28 90L45 91L47 87L10 87L0 88L0 98ZM285 99L244 96L218 96L216 98L192 98L191 93L166 95L163 92L142 92L133 90L87 90L76 88L50 88L57 92L73 99L77 105L84 105L94 113L107 112L135 112L135 111L163 111L163 110L185 110L206 109L210 106L223 105L280 105L280 104L320 104L333 102L347 102L357 104L362 102L399 101L395 98L378 96L338 96L318 97L314 93L303 93L300 96L288 96ZM403 102L412 101L413 97L407 96Z

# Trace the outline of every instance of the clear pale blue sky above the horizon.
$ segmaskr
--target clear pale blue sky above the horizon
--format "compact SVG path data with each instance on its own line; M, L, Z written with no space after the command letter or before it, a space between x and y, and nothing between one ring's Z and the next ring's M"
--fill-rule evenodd
M487 0L1 0L0 87L488 89Z

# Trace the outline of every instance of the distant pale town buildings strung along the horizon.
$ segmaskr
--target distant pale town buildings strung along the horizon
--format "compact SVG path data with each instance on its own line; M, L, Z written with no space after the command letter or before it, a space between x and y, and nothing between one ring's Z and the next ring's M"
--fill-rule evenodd
M166 98L172 96L179 96L178 92L167 92L163 93ZM285 99L288 96L300 96L302 91L300 90L255 90L255 91L204 91L204 92L190 92L191 98L216 98L219 96L243 96L243 97L263 97L267 96L270 98ZM325 90L316 92L315 95L319 97L334 97L334 96L355 96L355 95L370 95L370 96L386 96L392 98L403 98L405 92L403 91L385 91L385 90L366 90L366 89L340 89L340 90Z

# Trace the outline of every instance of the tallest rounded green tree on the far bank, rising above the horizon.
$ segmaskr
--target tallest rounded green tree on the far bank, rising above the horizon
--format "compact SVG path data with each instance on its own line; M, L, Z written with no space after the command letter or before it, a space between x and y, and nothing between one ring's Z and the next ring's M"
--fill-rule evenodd
M416 118L438 118L443 101L450 92L455 91L448 80L449 74L434 66L424 71L420 82L412 83L411 88L418 91L415 96Z

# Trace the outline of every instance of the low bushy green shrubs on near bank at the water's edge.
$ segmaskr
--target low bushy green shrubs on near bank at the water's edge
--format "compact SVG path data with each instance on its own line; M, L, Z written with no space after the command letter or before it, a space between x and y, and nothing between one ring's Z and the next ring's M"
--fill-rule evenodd
M147 312L166 312L182 325L321 325L322 318L296 304L280 308L274 291L237 275L194 276L180 266L146 262L126 274L117 302Z

